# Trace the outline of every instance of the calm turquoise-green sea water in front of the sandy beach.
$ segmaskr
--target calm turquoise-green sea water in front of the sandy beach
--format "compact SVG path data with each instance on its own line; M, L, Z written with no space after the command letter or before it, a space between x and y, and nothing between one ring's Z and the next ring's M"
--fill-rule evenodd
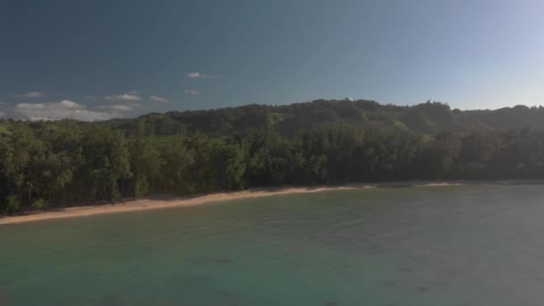
M0 305L543 305L544 188L327 191L0 226Z

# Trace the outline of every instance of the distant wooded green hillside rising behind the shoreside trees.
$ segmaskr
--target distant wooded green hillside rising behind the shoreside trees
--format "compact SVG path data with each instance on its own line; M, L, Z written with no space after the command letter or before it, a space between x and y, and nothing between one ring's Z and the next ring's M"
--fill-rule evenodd
M247 105L149 114L109 123L132 134L140 121L145 121L150 132L157 135L199 131L217 136L266 128L292 137L328 123L343 123L362 129L406 128L412 132L434 135L440 132L542 129L544 108L514 106L461 111L439 102L394 106L369 100L315 100L285 106Z

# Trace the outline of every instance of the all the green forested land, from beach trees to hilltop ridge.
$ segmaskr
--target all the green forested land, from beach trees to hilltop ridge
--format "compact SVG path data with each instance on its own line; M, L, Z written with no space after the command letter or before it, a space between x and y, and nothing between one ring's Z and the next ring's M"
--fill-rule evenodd
M0 121L0 212L277 185L544 178L544 109L319 100Z

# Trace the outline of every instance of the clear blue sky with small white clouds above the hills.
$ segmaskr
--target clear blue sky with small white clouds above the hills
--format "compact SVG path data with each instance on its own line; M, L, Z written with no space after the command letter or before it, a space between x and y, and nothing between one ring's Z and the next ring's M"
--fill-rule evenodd
M344 97L540 105L542 16L540 0L3 0L0 115Z

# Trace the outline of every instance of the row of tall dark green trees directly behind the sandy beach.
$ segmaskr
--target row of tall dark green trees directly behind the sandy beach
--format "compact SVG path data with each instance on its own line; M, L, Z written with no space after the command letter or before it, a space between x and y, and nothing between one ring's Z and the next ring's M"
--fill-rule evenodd
M27 123L0 134L0 211L259 186L544 178L544 132L441 133L325 124L210 137L108 124Z

